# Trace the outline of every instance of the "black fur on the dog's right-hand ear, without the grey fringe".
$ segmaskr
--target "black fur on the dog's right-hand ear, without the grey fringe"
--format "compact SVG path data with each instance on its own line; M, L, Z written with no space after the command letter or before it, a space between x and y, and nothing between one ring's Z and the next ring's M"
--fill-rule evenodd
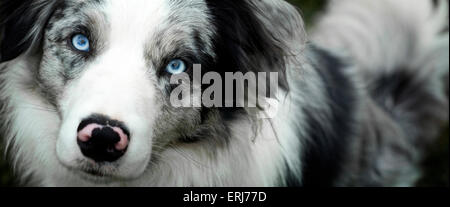
M225 72L278 72L280 87L287 89L285 46L256 16L258 8L249 1L206 3L217 30L213 38L217 60L212 69L223 77Z

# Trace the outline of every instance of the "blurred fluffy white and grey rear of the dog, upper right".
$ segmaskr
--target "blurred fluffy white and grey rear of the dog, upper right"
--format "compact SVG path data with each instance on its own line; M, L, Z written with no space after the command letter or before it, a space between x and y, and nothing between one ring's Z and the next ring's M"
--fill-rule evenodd
M449 118L448 0L330 1L311 39L347 55L409 151L424 150Z

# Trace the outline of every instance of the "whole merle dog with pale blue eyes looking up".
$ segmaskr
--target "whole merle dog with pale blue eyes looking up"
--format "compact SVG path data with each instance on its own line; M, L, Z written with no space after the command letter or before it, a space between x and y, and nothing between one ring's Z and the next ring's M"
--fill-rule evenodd
M307 35L283 0L3 0L0 28L22 185L414 186L448 121L446 1L331 1ZM275 113L174 106L194 65L276 74Z

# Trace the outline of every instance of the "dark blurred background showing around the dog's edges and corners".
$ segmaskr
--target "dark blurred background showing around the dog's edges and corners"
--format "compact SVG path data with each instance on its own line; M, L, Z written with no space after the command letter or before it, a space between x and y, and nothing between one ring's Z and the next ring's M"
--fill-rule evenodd
M307 27L311 25L315 15L323 9L326 0L288 0L296 5L303 17ZM448 187L449 186L449 130L448 124L443 127L443 136L439 142L432 146L427 159L423 165L425 168L424 177L417 184L422 187ZM14 186L15 179L11 173L11 167L3 159L4 154L0 154L0 186Z

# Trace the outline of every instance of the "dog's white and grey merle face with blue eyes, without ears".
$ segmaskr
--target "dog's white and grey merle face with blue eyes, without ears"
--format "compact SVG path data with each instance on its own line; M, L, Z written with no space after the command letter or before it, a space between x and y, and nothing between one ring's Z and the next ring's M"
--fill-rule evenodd
M198 57L214 54L206 11L197 0L71 0L56 9L38 80L60 112L62 164L136 178L154 146L193 131L199 110L169 102L170 67L188 72Z

